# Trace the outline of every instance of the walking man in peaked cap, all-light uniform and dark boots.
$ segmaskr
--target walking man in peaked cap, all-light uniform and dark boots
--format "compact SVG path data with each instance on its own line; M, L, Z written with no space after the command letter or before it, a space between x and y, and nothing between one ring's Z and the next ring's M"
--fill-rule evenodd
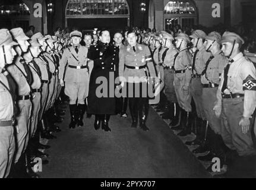
M60 83L62 87L64 86L65 81L65 94L69 97L69 108L71 113L71 123L69 124L69 128L75 128L76 124L78 126L83 126L83 115L86 111L84 100L88 96L89 77L93 65L91 62L87 63L87 47L80 45L82 33L80 31L72 31L70 37L73 46L64 50L62 59L59 63L59 80L61 81ZM65 71L66 66L67 69ZM78 121L76 121L77 110Z

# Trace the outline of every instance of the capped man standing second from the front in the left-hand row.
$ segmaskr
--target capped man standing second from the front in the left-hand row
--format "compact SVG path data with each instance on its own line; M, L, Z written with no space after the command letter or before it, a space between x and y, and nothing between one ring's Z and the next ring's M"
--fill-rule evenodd
M8 72L14 78L15 83L18 85L18 109L19 114L17 116L17 152L15 154L14 163L17 163L27 148L29 142L29 119L31 115L31 101L30 101L30 85L33 83L33 77L29 66L23 59L24 52L27 52L29 48L29 37L27 37L23 29L16 28L11 30L11 34L18 42L18 46L15 46L15 51L18 54L14 64L8 66Z

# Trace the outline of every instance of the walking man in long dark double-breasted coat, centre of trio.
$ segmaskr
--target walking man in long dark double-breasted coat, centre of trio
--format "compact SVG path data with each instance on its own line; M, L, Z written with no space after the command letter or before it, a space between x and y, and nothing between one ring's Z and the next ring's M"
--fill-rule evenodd
M93 61L93 71L90 76L89 96L87 113L95 115L94 128L100 128L102 121L102 129L111 131L108 126L110 115L116 113L115 109L115 71L116 55L118 47L109 45L110 33L108 30L100 31L100 42L98 45L91 46L87 57ZM99 77L106 79L103 84L99 84ZM103 85L103 86L102 86ZM100 89L106 91L106 96L102 97Z

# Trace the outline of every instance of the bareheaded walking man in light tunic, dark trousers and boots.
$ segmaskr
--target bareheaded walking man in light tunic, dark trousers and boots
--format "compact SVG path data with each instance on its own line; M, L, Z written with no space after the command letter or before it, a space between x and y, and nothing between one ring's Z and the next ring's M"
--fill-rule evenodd
M119 80L122 87L128 89L127 95L132 117L131 126L137 127L139 115L140 128L148 131L146 126L148 114L147 84L151 77L156 79L156 71L150 50L145 45L137 44L137 36L134 31L128 32L127 40L129 45L119 53ZM133 90L130 91L131 89Z

